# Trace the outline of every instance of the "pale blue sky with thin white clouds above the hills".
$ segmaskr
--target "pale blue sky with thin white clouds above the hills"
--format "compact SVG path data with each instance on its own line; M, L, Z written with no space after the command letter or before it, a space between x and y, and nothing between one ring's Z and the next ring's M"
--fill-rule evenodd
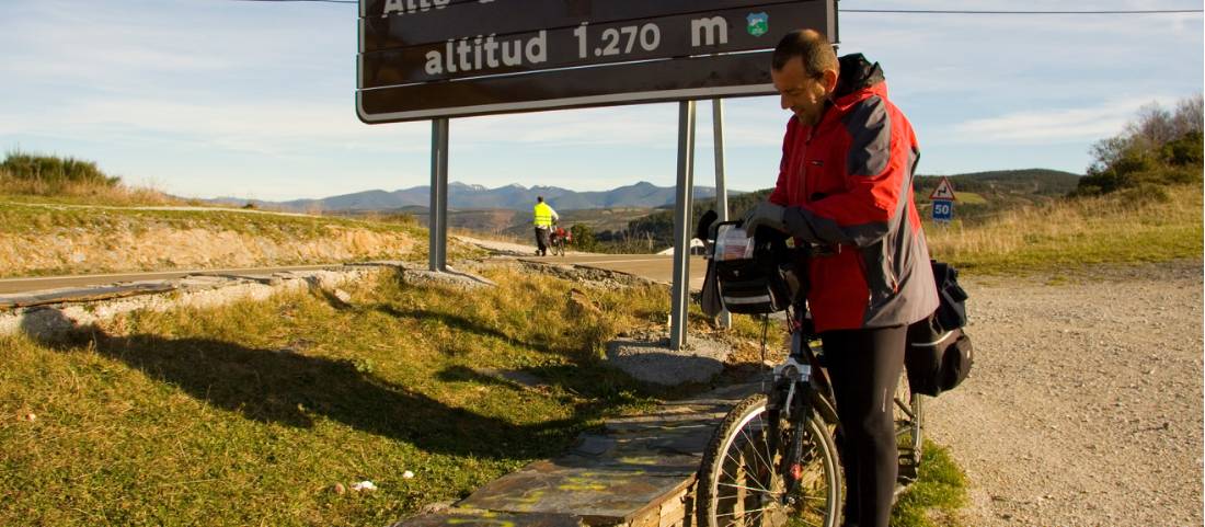
M516 0L517 1L517 0ZM842 0L842 8L1152 10L1186 0ZM0 148L95 160L183 197L283 200L430 181L430 124L355 117L357 6L229 0L0 1ZM1203 87L1203 18L845 13L878 60L922 174L1052 168L1145 104ZM787 113L725 103L729 186L774 185ZM695 181L712 185L710 104ZM453 119L451 178L500 187L672 186L677 105Z

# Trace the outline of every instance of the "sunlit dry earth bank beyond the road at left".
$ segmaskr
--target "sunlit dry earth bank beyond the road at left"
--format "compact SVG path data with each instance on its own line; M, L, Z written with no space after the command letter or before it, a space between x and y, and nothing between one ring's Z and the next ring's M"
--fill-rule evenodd
M406 233L335 226L325 227L319 235L308 235L306 239L154 224L108 228L104 235L84 228L55 228L34 234L0 233L0 275L399 259L415 248L415 236Z

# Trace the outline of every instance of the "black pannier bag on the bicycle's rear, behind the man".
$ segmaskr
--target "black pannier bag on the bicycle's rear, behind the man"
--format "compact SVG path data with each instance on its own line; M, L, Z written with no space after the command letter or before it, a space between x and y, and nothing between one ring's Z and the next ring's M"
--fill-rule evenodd
M958 285L958 270L931 260L937 286L937 310L907 328L904 365L915 393L936 397L953 390L970 374L975 362L966 324L966 292Z

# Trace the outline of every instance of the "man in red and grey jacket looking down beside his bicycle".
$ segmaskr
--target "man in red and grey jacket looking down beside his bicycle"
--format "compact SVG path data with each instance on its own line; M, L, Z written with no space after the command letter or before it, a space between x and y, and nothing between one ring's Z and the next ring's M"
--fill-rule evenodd
M771 227L812 246L807 303L841 421L845 525L887 527L906 329L937 308L912 201L916 134L887 99L878 64L862 54L839 60L819 33L783 37L771 77L793 117L778 182L746 229Z

